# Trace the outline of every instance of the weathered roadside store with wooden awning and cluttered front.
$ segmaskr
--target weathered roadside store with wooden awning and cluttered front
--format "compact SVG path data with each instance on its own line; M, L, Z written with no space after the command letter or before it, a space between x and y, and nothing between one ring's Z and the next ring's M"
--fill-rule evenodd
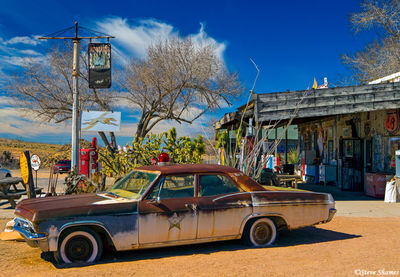
M255 94L253 101L256 128L298 126L305 180L383 197L400 149L400 83Z

